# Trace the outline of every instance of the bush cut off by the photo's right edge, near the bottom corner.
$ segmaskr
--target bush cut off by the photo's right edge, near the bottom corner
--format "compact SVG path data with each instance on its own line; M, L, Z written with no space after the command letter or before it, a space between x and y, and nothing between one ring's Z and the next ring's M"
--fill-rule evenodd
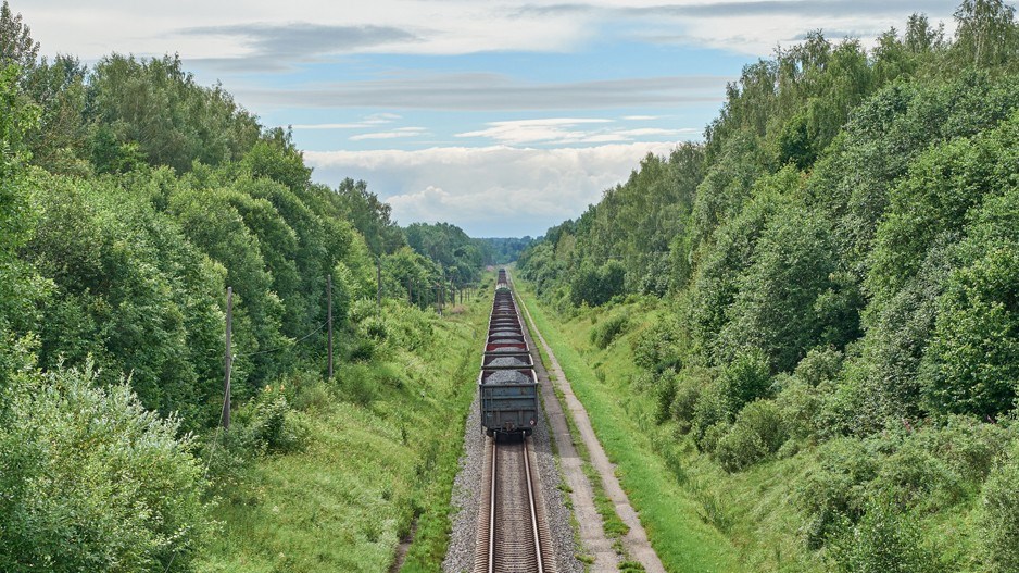
M983 487L978 531L996 572L1019 570L1019 441Z

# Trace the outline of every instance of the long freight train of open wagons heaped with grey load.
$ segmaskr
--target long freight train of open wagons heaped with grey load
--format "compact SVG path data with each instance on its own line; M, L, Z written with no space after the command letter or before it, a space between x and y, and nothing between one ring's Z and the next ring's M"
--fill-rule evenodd
M478 390L481 427L489 436L527 436L538 425L538 376L505 269L495 282Z

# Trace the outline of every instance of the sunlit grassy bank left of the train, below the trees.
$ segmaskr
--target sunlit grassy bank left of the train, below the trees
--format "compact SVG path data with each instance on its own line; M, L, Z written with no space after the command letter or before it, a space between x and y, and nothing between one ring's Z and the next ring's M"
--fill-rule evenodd
M385 572L415 516L404 571L439 571L487 306L431 321L415 352L341 368L340 388L360 378L375 393L366 406L324 384L298 390L310 402L299 413L307 447L266 457L223 489L224 530L200 571Z

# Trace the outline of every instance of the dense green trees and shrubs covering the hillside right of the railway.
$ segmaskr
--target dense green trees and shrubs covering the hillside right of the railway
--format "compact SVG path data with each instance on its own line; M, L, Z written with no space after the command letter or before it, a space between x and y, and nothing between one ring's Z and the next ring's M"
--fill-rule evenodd
M1019 24L1001 0L955 17L952 39L915 15L870 50L814 33L748 65L703 145L520 258L564 313L665 298L634 387L729 472L819 456L803 537L843 571L1015 566ZM917 534L953 511L980 515L979 555Z

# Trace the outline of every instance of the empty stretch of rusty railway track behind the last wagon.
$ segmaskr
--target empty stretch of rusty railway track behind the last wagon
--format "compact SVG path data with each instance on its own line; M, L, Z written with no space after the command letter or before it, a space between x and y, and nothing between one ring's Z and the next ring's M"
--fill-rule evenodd
M555 573L528 439L496 438L487 439L475 573Z

